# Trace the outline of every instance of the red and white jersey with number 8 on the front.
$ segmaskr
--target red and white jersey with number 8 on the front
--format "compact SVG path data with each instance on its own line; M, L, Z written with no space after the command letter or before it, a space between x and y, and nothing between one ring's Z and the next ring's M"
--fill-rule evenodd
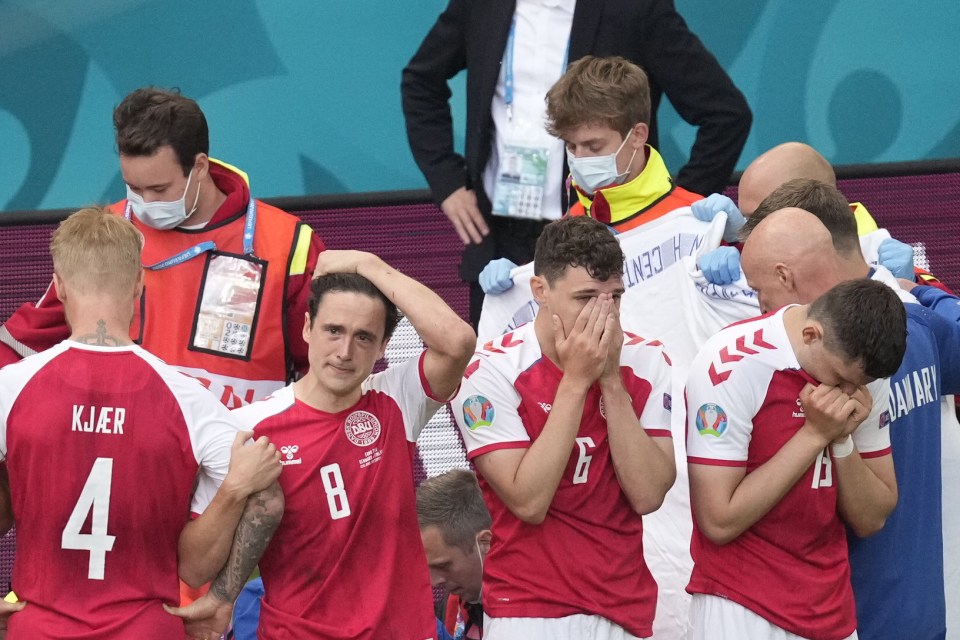
M261 640L436 637L413 455L441 404L421 362L371 376L338 413L297 400L293 386L234 411L284 465L283 520L260 560Z

